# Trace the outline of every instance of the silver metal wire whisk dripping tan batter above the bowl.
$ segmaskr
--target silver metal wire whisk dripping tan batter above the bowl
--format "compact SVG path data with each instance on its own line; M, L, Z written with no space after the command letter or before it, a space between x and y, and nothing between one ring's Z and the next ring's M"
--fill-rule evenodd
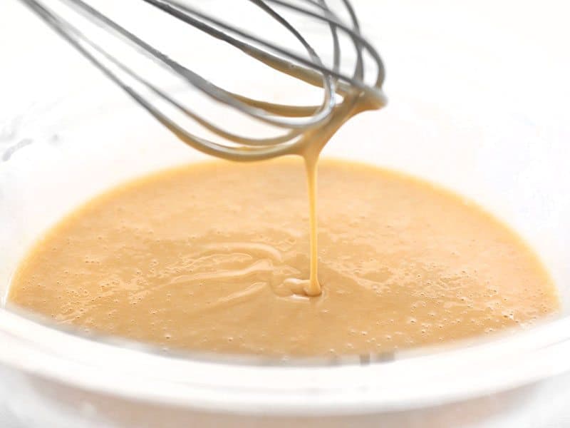
M299 106L262 101L248 96L228 91L204 78L192 68L182 65L164 54L150 42L142 40L137 34L125 26L119 25L100 10L83 0L21 0L63 39L66 39L83 56L103 71L108 78L115 82L130 97L154 116L160 123L175 133L182 141L199 151L221 158L242 158L243 160L258 160L292 153L296 145L310 131L328 123L338 106L345 102L354 102L350 94L366 96L378 106L385 103L381 91L384 80L383 63L373 46L361 36L358 19L353 6L348 0L341 0L341 11L348 19L341 19L340 11L333 10L326 0L237 0L257 6L260 11L269 16L276 25L281 26L304 49L304 54L289 49L289 46L276 44L270 39L252 34L236 23L228 23L217 16L207 14L198 9L196 1L178 0L140 0L158 11L167 14L178 21L189 24L204 34L223 41L247 56L261 61L276 71L298 78L312 86L322 88L322 101L319 106ZM229 0L228 0L229 1ZM54 3L55 2L55 3ZM49 4L50 6L47 6ZM112 36L113 40L135 49L138 54L150 58L169 73L174 73L187 84L201 91L205 96L228 108L233 108L254 120L274 126L280 131L278 135L269 138L259 138L241 135L222 126L220 122L197 113L197 109L188 108L177 101L160 85L142 76L140 70L128 66L123 58L110 53L106 45L95 42L86 36L79 26L70 19L58 13L54 4L64 6L73 14L87 19L98 28ZM284 14L294 13L314 19L325 24L332 41L332 66L328 66L306 36L286 19ZM341 55L339 34L349 39L356 52L352 73L341 71L345 57ZM365 57L366 53L366 57ZM366 58L366 59L365 59ZM375 63L375 75L372 83L365 83L365 61L372 59ZM134 84L136 83L136 84ZM339 101L341 96L342 101ZM160 106L159 106L160 101ZM210 134L219 137L219 141L197 135L188 131L175 116L189 118L202 126Z

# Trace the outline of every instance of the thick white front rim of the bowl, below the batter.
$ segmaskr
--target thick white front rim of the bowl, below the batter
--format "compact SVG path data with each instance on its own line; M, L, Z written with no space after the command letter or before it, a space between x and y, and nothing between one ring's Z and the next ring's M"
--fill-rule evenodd
M123 399L237 414L354 414L459 402L570 370L570 317L470 346L349 365L244 365L147 352L0 310L0 364Z

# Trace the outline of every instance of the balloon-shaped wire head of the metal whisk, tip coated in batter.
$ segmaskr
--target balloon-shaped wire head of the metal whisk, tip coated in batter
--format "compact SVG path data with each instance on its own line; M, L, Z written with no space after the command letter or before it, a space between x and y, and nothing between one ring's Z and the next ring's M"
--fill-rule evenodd
M367 96L378 106L385 102L381 91L383 63L361 35L349 0L335 1L334 6L332 0L226 1L225 5L234 9L225 20L209 10L209 2L204 11L200 7L203 2L196 0L136 0L152 13L160 14L161 19L188 24L252 61L318 88L318 105L299 105L300 101L276 103L214 83L211 76L197 70L196 63L177 61L141 36L135 29L135 13L128 14L125 23L119 23L95 5L96 1L58 0L56 4L49 2L49 7L41 0L21 1L182 141L214 156L256 160L291 153L309 131L331 120L341 99L345 100L348 94ZM248 5L250 9L244 9ZM252 25L242 24L244 14L249 14L249 23L254 21L253 13L274 25L265 34L256 33ZM326 48L311 39L315 33L309 29L309 23L326 26ZM194 42L192 38L184 41L189 45ZM351 54L346 54L347 46L351 47ZM368 63L374 65L372 73ZM150 65L175 76L209 101L263 124L271 133L239 133L224 121L224 114L207 117L197 103L190 107L173 96L172 91L165 90L157 75L147 76ZM232 73L232 64L228 67L227 72Z

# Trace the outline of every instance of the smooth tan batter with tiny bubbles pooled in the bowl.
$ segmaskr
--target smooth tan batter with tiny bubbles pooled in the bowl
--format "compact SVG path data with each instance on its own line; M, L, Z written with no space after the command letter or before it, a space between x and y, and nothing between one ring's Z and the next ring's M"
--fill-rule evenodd
M111 190L56 225L9 301L54 322L168 348L272 356L388 352L558 309L505 225L428 183L319 163L318 280L301 161L215 162Z

